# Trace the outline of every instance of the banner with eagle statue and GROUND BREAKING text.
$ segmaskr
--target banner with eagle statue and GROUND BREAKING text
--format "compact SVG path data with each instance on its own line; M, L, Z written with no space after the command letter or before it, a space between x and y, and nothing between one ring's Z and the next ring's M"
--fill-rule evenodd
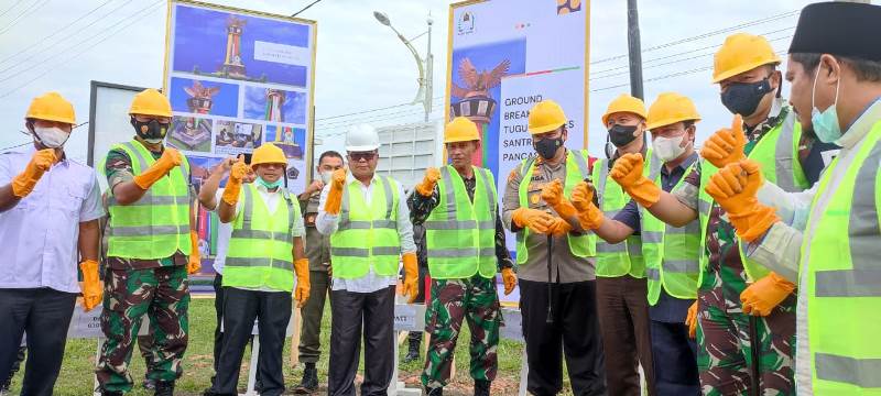
M535 156L529 110L552 99L568 118L566 146L587 147L590 8L580 0L486 0L450 6L448 119L481 131L475 163L496 175L504 195L510 172ZM514 239L508 244L514 250Z

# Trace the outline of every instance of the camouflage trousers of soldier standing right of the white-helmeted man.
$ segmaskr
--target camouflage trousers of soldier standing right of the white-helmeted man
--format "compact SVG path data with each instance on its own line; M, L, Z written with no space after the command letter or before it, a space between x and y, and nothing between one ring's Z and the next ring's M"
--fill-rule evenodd
M432 300L425 311L425 331L429 339L423 386L443 387L449 381L453 352L465 319L471 331L471 377L496 378L502 315L496 278L487 279L478 274L466 279L432 279Z

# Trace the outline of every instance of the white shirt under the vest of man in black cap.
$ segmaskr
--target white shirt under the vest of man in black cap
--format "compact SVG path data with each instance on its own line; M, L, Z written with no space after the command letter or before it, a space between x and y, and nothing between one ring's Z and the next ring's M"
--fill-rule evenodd
M748 252L750 258L766 266L781 265L794 271L796 274L800 273L800 263L804 263L801 268L798 284L807 285L811 251L805 250L807 256L802 260L802 242L811 241L814 238L818 221L807 224L805 219L807 219L808 215L813 216L814 219L819 219L820 215L826 211L826 207L828 207L848 168L853 163L853 158L862 145L861 143L878 121L881 121L881 101L875 101L870 106L838 141L841 151L838 153L838 164L835 173L830 175L829 183L823 191L824 194L817 197L817 204L813 208L811 207L811 200L817 194L819 183L807 191L795 194L782 193L776 186L765 183L759 198L763 204L765 204L766 199L770 199L771 202L768 202L768 205L777 207L777 212L782 215L781 218L785 223L774 224L761 243L754 250L751 249L751 252ZM800 395L813 395L814 393L811 374L813 362L811 361L807 327L807 287L798 287L795 311L795 383Z

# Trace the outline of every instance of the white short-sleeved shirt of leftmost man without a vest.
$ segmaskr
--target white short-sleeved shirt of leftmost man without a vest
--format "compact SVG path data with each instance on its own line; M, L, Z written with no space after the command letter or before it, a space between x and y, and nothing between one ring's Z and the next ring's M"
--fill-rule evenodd
M34 152L0 154L0 186L22 173ZM0 212L0 288L79 293L79 223L104 213L95 169L69 158L53 165L30 195Z

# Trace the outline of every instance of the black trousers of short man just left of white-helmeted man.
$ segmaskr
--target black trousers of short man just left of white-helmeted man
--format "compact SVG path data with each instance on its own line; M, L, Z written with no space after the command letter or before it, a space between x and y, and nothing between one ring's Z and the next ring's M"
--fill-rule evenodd
M282 350L291 320L292 296L285 292L254 292L224 287L224 339L215 387L220 395L238 395L244 346L258 319L260 352L257 372L263 396L284 393Z

